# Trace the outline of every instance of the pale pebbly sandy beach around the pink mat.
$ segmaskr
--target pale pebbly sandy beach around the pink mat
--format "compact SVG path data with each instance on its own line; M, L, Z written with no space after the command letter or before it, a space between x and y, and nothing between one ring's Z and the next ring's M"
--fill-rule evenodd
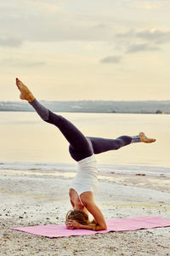
M11 230L63 224L71 209L65 172L0 170L0 255L170 255L170 227L49 239ZM170 178L146 173L100 173L96 202L110 218L170 219Z

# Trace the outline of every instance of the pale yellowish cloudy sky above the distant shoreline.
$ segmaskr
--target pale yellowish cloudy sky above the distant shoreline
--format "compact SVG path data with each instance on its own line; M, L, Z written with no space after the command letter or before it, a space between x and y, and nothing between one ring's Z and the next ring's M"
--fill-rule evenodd
M169 0L0 0L0 101L170 100Z

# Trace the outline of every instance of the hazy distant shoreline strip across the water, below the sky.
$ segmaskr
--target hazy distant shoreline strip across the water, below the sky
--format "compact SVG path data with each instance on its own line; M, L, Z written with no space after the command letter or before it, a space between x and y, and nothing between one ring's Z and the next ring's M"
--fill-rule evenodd
M86 113L170 113L170 101L113 102L77 101L47 102L40 101L54 112ZM34 111L27 102L0 102L0 111Z

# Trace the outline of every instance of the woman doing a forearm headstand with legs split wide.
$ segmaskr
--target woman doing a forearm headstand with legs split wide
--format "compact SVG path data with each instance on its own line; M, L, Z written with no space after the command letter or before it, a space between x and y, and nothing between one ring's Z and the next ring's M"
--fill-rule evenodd
M106 230L104 215L94 202L98 186L98 169L94 154L116 150L130 143L153 143L156 140L146 137L143 132L140 132L139 136L122 136L116 139L85 137L70 121L42 106L19 79L16 79L16 85L20 90L20 99L28 101L44 121L59 128L70 143L71 157L77 161L77 175L69 191L73 211L66 215L67 228ZM89 221L88 212L94 216L94 221Z

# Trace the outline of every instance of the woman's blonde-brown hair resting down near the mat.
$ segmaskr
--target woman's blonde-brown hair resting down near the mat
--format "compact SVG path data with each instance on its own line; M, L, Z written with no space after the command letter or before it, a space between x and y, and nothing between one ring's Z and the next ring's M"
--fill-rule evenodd
M88 214L86 214L85 212L82 212L82 211L77 211L77 210L72 211L71 210L71 211L67 212L65 220L67 221L69 219L77 220L77 222L82 225L88 225L88 224L97 225L95 219L93 221L90 221L88 218Z

